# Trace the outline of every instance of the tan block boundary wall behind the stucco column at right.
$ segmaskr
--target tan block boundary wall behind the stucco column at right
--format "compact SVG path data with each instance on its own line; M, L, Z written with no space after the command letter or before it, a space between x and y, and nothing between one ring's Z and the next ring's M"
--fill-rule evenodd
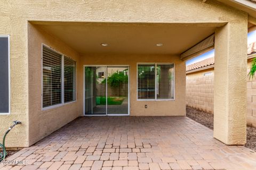
M252 59L249 59L247 62L248 73L250 71L251 64ZM204 76L204 73L207 72L212 72L213 74L209 76ZM188 73L186 79L186 105L197 109L201 109L202 111L213 113L214 69L212 68L193 73ZM209 98L205 98L205 96L208 96ZM256 127L255 78L247 78L247 125Z

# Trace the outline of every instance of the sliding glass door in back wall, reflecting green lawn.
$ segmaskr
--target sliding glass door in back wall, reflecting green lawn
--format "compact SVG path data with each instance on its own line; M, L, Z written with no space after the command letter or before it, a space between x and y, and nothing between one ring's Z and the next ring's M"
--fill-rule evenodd
M129 114L129 67L84 67L84 114Z

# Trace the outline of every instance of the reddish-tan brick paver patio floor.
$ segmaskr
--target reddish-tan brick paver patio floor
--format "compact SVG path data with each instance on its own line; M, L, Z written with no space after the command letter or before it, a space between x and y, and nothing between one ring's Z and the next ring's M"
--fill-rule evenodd
M188 117L80 117L22 149L0 169L256 169L256 154L226 146Z

